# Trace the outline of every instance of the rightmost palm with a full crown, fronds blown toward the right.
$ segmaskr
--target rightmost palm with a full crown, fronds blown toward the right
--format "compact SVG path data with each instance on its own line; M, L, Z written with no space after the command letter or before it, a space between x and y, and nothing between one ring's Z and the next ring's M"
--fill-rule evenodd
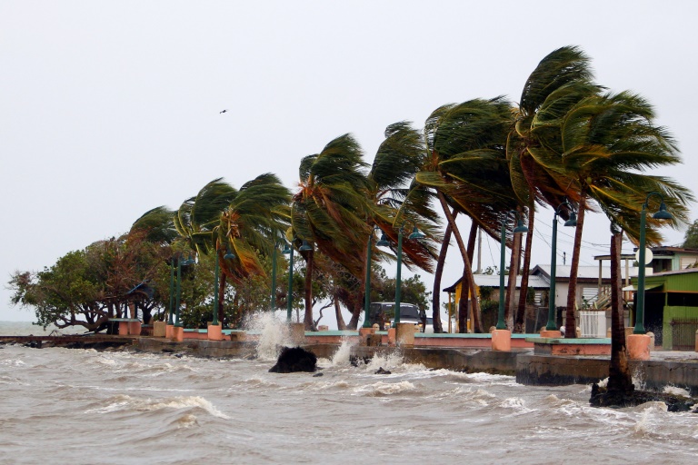
M647 187L666 195L678 221L685 221L690 191L672 180L643 172L681 163L671 134L653 124L650 104L637 94L594 94L575 104L561 122L562 169L579 189L579 211L574 235L572 268L579 263L584 212L595 201L613 223L637 237L637 226L627 221L637 212ZM574 337L576 281L571 275L565 336Z

